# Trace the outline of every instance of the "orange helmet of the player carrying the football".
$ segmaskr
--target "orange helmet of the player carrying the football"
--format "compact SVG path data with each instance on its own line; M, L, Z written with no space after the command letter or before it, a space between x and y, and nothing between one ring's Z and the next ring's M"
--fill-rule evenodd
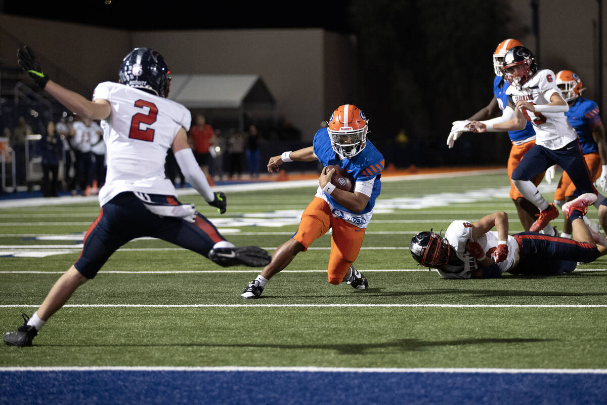
M358 155L367 146L368 121L353 104L337 107L327 121L331 148L344 158Z

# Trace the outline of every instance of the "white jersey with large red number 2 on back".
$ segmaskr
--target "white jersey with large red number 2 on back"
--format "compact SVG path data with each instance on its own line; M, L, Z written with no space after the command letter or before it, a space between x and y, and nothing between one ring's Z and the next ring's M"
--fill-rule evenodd
M100 205L124 191L177 196L164 175L164 162L180 128L189 130L189 110L175 101L109 81L95 88L93 101L99 99L109 101L112 108L101 122L107 176L99 192Z

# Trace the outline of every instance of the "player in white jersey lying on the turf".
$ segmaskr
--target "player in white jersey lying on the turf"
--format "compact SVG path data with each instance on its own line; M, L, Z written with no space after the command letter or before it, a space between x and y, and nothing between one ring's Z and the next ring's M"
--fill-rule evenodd
M563 274L575 270L577 262L590 263L607 253L607 239L594 233L583 220L588 205L596 200L582 194L563 205L571 220L574 239L534 232L508 235L508 215L489 214L478 222L453 221L444 238L420 232L410 243L419 264L436 268L446 279L496 278L501 273ZM495 231L492 231L495 226Z

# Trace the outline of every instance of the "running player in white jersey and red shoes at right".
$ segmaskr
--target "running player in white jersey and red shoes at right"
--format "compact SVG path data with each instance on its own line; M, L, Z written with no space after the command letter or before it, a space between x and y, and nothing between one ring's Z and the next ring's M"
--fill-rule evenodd
M523 129L527 121L534 124L535 146L526 152L512 172L512 182L518 191L540 209L538 219L529 231L543 230L558 216L554 203L548 203L531 181L555 164L569 174L580 194L597 195L599 198L595 206L599 208L604 197L592 185L577 134L565 116L569 105L561 97L554 72L548 69L538 70L535 56L524 46L506 52L503 71L510 83L506 90L506 94L510 95L507 108L514 110L514 118L496 124L473 121L469 125L474 132L499 132Z

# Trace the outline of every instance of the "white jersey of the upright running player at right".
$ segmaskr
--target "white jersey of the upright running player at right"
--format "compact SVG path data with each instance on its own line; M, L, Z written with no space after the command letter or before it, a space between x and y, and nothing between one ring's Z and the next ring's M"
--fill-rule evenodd
M560 95L552 70L538 70L533 77L527 80L519 90L517 86L509 86L506 94L512 97L512 102L527 101L535 105L550 103L552 94ZM535 143L548 149L560 149L571 141L577 139L575 130L569 125L564 112L531 112L521 109L521 112L534 124Z

